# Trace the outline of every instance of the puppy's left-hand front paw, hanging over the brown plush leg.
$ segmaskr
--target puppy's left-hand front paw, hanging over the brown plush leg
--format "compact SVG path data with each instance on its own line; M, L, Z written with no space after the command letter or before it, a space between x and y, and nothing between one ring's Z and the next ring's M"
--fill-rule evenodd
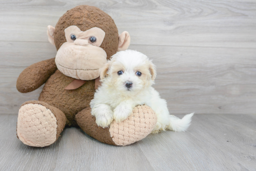
M96 124L102 128L108 127L113 121L113 111L102 111L96 116Z

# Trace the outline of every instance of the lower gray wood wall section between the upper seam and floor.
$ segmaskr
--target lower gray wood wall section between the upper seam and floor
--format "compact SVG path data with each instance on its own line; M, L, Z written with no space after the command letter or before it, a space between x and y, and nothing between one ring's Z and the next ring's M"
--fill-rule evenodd
M256 49L131 45L157 68L155 89L173 114L255 114ZM17 113L42 90L20 93L16 80L27 66L53 58L47 42L0 41L0 114Z

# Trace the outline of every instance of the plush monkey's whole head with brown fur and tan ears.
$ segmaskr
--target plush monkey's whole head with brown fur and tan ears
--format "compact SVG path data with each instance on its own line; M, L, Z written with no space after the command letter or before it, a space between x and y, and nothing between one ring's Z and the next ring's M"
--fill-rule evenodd
M128 32L118 36L114 20L99 8L87 5L64 13L56 28L47 26L47 35L58 51L58 69L68 77L82 80L98 78L107 59L130 44Z

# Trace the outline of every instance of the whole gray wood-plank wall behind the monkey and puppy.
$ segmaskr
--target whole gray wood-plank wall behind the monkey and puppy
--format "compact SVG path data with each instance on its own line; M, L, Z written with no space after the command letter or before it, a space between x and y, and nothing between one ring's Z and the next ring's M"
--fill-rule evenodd
M27 66L54 58L47 26L77 5L99 7L131 46L154 59L154 87L172 114L255 114L255 0L1 0L0 114L42 90L22 94L16 79Z

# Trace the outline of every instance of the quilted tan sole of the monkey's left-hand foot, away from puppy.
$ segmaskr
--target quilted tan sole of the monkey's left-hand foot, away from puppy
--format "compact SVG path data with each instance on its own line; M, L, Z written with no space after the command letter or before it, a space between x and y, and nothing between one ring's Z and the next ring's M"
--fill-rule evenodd
M22 105L17 122L17 136L25 145L44 147L56 141L57 119L40 104Z

